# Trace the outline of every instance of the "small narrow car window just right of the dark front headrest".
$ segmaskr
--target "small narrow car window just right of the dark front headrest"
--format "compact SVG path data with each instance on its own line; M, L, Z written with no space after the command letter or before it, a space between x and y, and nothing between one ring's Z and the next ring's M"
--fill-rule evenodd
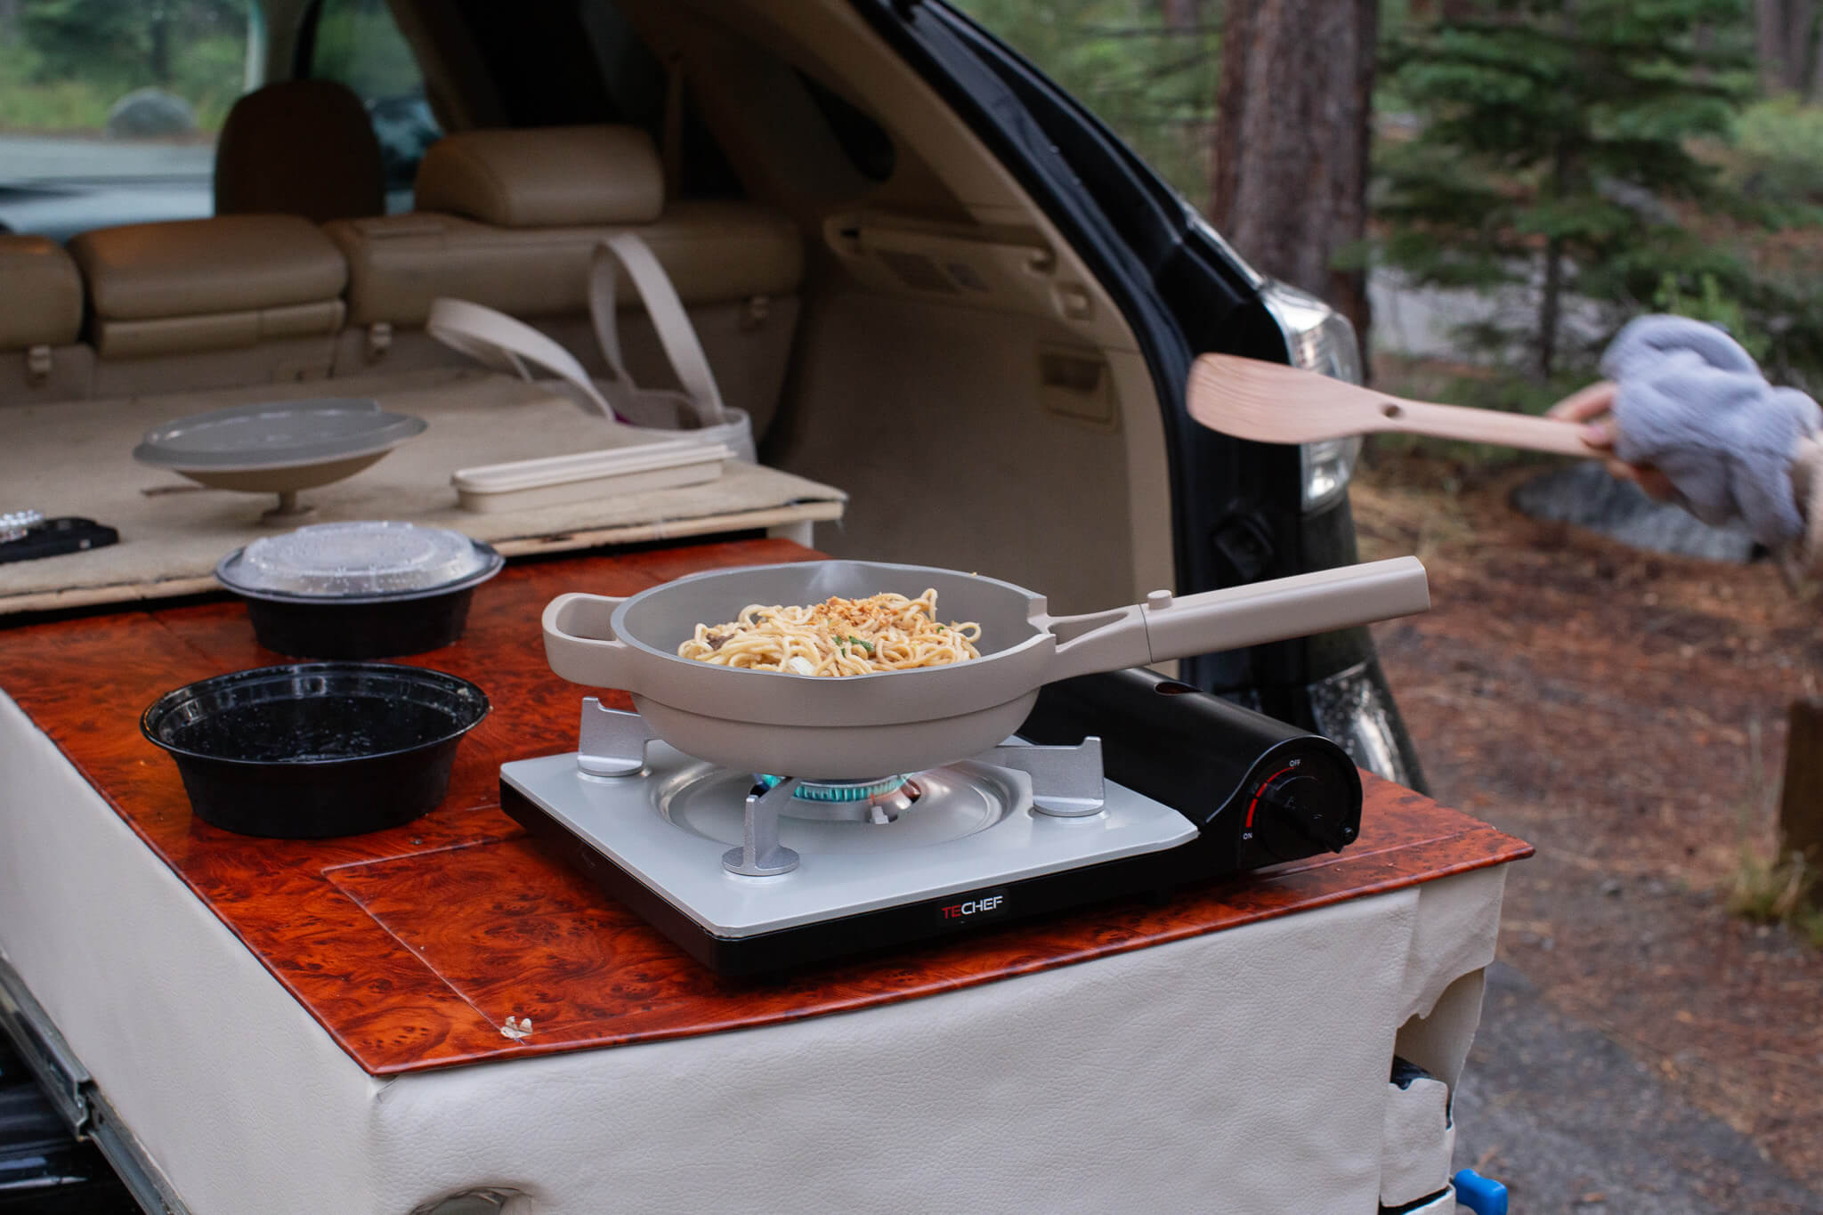
M443 135L410 44L386 0L321 0L314 20L299 75L346 84L361 98L386 169L386 209L410 209L417 162Z

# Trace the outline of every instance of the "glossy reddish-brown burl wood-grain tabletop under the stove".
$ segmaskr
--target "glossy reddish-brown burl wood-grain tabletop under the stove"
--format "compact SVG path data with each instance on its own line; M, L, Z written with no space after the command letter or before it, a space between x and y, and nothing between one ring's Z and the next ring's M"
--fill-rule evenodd
M465 638L401 659L479 683L492 714L417 822L341 840L255 840L195 818L146 705L184 683L288 661L239 601L0 628L0 687L268 971L372 1075L654 1042L853 1011L1214 933L1497 865L1531 847L1364 776L1360 840L1143 900L1008 924L755 984L724 980L541 853L500 809L500 765L576 747L589 690L543 659L540 612L567 590L627 596L695 570L811 559L788 541L706 543L509 567ZM631 709L623 694L603 703ZM532 1035L503 1033L507 1018Z

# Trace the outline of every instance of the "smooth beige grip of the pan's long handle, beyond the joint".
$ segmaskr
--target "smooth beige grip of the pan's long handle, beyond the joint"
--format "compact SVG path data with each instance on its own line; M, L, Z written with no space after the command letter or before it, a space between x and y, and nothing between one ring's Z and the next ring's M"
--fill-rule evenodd
M1267 583L1174 599L1154 594L1141 608L1150 661L1307 638L1431 607L1416 557L1344 565Z

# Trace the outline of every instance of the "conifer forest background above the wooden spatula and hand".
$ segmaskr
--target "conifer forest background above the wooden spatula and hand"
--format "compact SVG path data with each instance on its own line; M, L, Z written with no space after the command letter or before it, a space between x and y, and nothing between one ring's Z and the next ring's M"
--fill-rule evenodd
M1628 317L1655 310L1725 324L1776 379L1823 384L1816 0L959 7L1094 109L1267 273L1344 306L1364 333L1373 317L1365 297L1351 301L1349 271L1446 291L1462 366L1431 386L1453 399L1542 408L1590 379ZM1353 60L1351 38L1365 51ZM1294 47L1291 62L1262 75L1280 47ZM1300 107L1300 78L1316 107ZM1358 135L1331 124L1307 140L1305 164L1298 148L1247 138L1260 131L1249 107L1298 122L1323 104L1345 109L1351 89L1364 98ZM1223 155L1243 180L1263 179L1267 157L1294 160L1305 209L1320 211L1323 166L1354 157L1351 140L1365 149L1365 208L1354 230L1342 215L1327 235L1331 281L1271 264L1271 239L1238 230L1276 208L1223 199ZM1406 361L1387 341L1369 348L1395 355L1376 370L1396 386Z

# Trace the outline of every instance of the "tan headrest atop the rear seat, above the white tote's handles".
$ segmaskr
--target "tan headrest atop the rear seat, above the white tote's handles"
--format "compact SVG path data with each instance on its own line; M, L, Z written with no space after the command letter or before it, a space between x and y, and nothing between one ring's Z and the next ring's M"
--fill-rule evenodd
M417 166L419 211L500 228L649 224L665 208L651 137L631 126L461 131Z

